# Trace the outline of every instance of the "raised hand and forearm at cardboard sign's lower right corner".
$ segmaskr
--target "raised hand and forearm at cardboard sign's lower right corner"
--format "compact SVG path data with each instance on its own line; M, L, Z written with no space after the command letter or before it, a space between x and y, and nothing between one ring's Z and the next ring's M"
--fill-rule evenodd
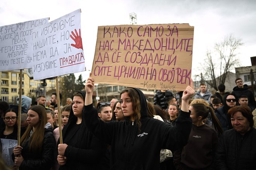
M194 82L192 79L191 83L187 88L184 90L183 95L182 95L182 107L181 110L184 112L189 112L189 99L192 97L195 93L194 90Z

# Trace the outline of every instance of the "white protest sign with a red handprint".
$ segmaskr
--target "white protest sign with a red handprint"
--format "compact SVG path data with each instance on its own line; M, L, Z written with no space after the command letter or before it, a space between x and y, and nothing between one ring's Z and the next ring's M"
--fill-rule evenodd
M80 9L37 29L32 42L34 80L85 71Z

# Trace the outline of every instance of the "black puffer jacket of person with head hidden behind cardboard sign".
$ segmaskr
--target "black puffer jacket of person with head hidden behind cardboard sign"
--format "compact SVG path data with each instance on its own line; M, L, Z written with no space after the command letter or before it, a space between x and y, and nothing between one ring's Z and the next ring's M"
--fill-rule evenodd
M168 107L168 102L167 99L168 97L172 97L173 92L170 90L166 90L165 92L161 92L160 90L156 91L156 94L154 95L154 105L159 106L161 109L167 109Z

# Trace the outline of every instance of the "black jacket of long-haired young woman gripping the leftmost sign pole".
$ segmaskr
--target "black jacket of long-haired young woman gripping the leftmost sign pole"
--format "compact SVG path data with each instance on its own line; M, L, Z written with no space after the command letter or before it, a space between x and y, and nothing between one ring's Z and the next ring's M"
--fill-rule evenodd
M28 138L29 139L29 138ZM45 135L43 137L43 149L42 153L31 153L29 151L29 140L26 140L21 144L21 155L24 160L19 167L20 170L50 170L54 163L54 148L56 142L53 136L53 129L49 123L49 126L45 129ZM12 154L12 160L14 160L14 154Z

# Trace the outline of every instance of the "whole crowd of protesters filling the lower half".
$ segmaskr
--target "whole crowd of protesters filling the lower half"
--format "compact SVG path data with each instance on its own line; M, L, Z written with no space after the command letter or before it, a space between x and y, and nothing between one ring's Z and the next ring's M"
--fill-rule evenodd
M221 84L212 94L204 83L195 92L191 81L182 92L157 90L154 102L138 88L125 88L118 99L93 105L90 77L85 92L60 103L60 113L56 93L48 101L39 96L32 106L22 96L14 165L1 158L0 168L255 170L256 102L241 78L235 84L231 93ZM17 105L0 102L0 114L0 138L17 140Z

